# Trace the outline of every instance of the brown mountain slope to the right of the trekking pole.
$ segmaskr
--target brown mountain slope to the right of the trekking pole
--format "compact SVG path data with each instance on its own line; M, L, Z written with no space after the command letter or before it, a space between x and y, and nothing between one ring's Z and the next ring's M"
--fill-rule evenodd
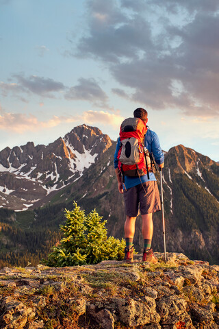
M218 263L219 167L196 151L178 145L166 154L164 191L171 250Z

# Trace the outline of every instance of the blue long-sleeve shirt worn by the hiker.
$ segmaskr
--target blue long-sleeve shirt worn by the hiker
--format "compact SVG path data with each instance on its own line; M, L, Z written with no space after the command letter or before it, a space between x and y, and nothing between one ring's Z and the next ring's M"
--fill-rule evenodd
M147 130L145 138L144 138L144 145L149 150L150 153L153 154L153 157L155 159L155 162L157 164L162 164L164 162L164 152L162 151L162 148L159 145L159 138L155 132L152 130ZM120 149L120 138L118 138L118 142L116 145L116 151L114 154L114 168L118 168L118 150ZM141 176L142 182L148 182L149 180L156 180L154 173L149 173L148 175ZM128 177L125 175L125 188L130 188L133 186L136 186L138 184L141 184L139 177Z

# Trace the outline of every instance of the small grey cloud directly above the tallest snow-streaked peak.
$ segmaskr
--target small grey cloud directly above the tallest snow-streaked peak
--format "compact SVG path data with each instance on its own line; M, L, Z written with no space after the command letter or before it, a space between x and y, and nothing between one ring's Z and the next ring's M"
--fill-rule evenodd
M81 77L79 84L69 88L65 95L68 100L90 101L94 106L106 107L107 95L94 79Z

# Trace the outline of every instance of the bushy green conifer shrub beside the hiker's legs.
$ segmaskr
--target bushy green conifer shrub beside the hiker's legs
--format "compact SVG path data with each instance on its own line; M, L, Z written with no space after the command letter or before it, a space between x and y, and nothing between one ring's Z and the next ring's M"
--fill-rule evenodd
M74 202L74 210L65 210L66 222L60 225L64 237L58 245L53 246L53 252L43 260L51 267L96 264L101 260L122 260L125 240L107 238L106 221L96 210L87 216Z

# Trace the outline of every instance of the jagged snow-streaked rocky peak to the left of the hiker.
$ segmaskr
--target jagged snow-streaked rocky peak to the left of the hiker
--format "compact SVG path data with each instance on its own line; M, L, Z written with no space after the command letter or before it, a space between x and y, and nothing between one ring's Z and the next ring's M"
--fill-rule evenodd
M0 206L25 210L39 204L78 179L111 145L101 130L81 125L48 146L6 147L0 152Z

